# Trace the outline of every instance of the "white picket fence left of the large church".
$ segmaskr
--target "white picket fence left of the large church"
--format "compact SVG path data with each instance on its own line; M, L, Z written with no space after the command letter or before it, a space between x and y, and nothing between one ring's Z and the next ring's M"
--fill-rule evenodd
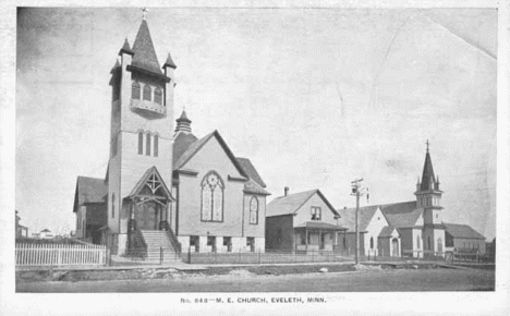
M102 245L17 244L16 266L105 266L107 250Z

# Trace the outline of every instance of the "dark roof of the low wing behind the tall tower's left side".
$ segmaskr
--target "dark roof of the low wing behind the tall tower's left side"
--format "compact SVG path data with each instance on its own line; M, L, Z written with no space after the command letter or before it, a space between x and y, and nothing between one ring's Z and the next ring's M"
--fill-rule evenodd
M73 212L87 203L106 203L108 196L108 185L104 179L78 177L76 180L76 191L74 194Z

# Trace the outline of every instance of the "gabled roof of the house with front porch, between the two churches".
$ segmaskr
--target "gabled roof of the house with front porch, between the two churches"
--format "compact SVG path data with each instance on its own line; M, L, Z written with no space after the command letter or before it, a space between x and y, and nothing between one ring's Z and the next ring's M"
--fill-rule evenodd
M317 194L324 200L324 203L329 207L335 216L338 216L337 210L323 195L323 193L318 189L314 189L275 198L266 207L266 217L294 215L301 208L301 206L303 206L303 204L305 204L315 194Z

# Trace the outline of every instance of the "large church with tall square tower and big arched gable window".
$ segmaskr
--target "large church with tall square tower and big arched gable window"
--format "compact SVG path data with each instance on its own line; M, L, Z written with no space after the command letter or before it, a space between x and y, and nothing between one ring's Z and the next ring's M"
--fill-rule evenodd
M170 53L158 62L144 16L111 70L106 177L76 181L76 236L120 255L264 252L266 184L218 131L195 136L185 111L174 125L175 69Z

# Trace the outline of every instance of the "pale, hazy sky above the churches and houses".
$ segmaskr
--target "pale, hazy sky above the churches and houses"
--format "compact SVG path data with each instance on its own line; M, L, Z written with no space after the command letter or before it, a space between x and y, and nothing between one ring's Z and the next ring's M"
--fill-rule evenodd
M31 232L75 229L78 175L104 178L110 70L142 11L23 9L16 40L15 206ZM218 130L275 197L320 189L352 207L413 200L430 142L444 220L496 230L494 9L157 9L174 116Z

